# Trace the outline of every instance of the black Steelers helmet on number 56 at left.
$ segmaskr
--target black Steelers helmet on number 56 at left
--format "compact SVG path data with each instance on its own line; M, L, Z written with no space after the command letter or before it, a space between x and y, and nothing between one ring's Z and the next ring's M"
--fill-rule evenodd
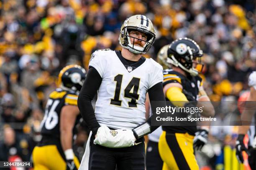
M86 77L84 68L79 65L67 65L59 72L59 87L63 90L80 91Z

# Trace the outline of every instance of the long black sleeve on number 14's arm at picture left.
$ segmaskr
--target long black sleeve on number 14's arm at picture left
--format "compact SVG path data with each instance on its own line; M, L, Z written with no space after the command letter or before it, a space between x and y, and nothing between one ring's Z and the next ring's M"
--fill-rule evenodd
M90 67L77 100L80 113L90 130L92 130L93 135L96 135L100 124L95 117L92 99L97 94L101 82L102 77L99 72L94 67Z

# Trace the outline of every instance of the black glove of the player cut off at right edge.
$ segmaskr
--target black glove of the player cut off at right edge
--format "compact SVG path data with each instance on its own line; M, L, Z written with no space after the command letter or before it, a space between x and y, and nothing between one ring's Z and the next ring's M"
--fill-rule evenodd
M236 140L236 157L240 163L243 163L243 151L245 151L248 156L250 155L248 149L243 143L244 134L239 134Z

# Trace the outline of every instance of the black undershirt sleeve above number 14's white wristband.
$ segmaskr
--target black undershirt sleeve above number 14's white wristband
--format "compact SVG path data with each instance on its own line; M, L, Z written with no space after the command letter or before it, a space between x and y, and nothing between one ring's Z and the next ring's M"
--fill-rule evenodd
M149 96L149 100L150 102L154 102L154 101L162 101L161 102L161 106L158 107L165 107L166 106L166 101L165 101L165 97L164 97L164 90L163 90L163 83L159 82L156 85L154 85L153 87L151 87L150 89L148 89L148 96ZM151 107L152 109L152 107ZM156 114L155 110L151 110L152 114ZM151 125L151 117L148 118L147 122L149 123L149 125ZM151 125L151 132L153 132L154 130L156 130L159 126L152 126Z

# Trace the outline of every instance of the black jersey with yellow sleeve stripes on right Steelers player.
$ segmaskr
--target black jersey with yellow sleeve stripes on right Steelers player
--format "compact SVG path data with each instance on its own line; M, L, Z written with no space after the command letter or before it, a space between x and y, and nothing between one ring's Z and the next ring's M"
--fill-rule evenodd
M178 82L182 85L183 90L182 92L190 101L195 101L198 99L199 94L199 87L202 86L202 78L197 75L195 77L185 77L181 73L166 69L163 71L164 73L164 82L163 86L167 85L168 83ZM169 101L166 98L166 101ZM163 126L163 130L169 133L189 133L190 135L195 135L197 131L196 126Z

